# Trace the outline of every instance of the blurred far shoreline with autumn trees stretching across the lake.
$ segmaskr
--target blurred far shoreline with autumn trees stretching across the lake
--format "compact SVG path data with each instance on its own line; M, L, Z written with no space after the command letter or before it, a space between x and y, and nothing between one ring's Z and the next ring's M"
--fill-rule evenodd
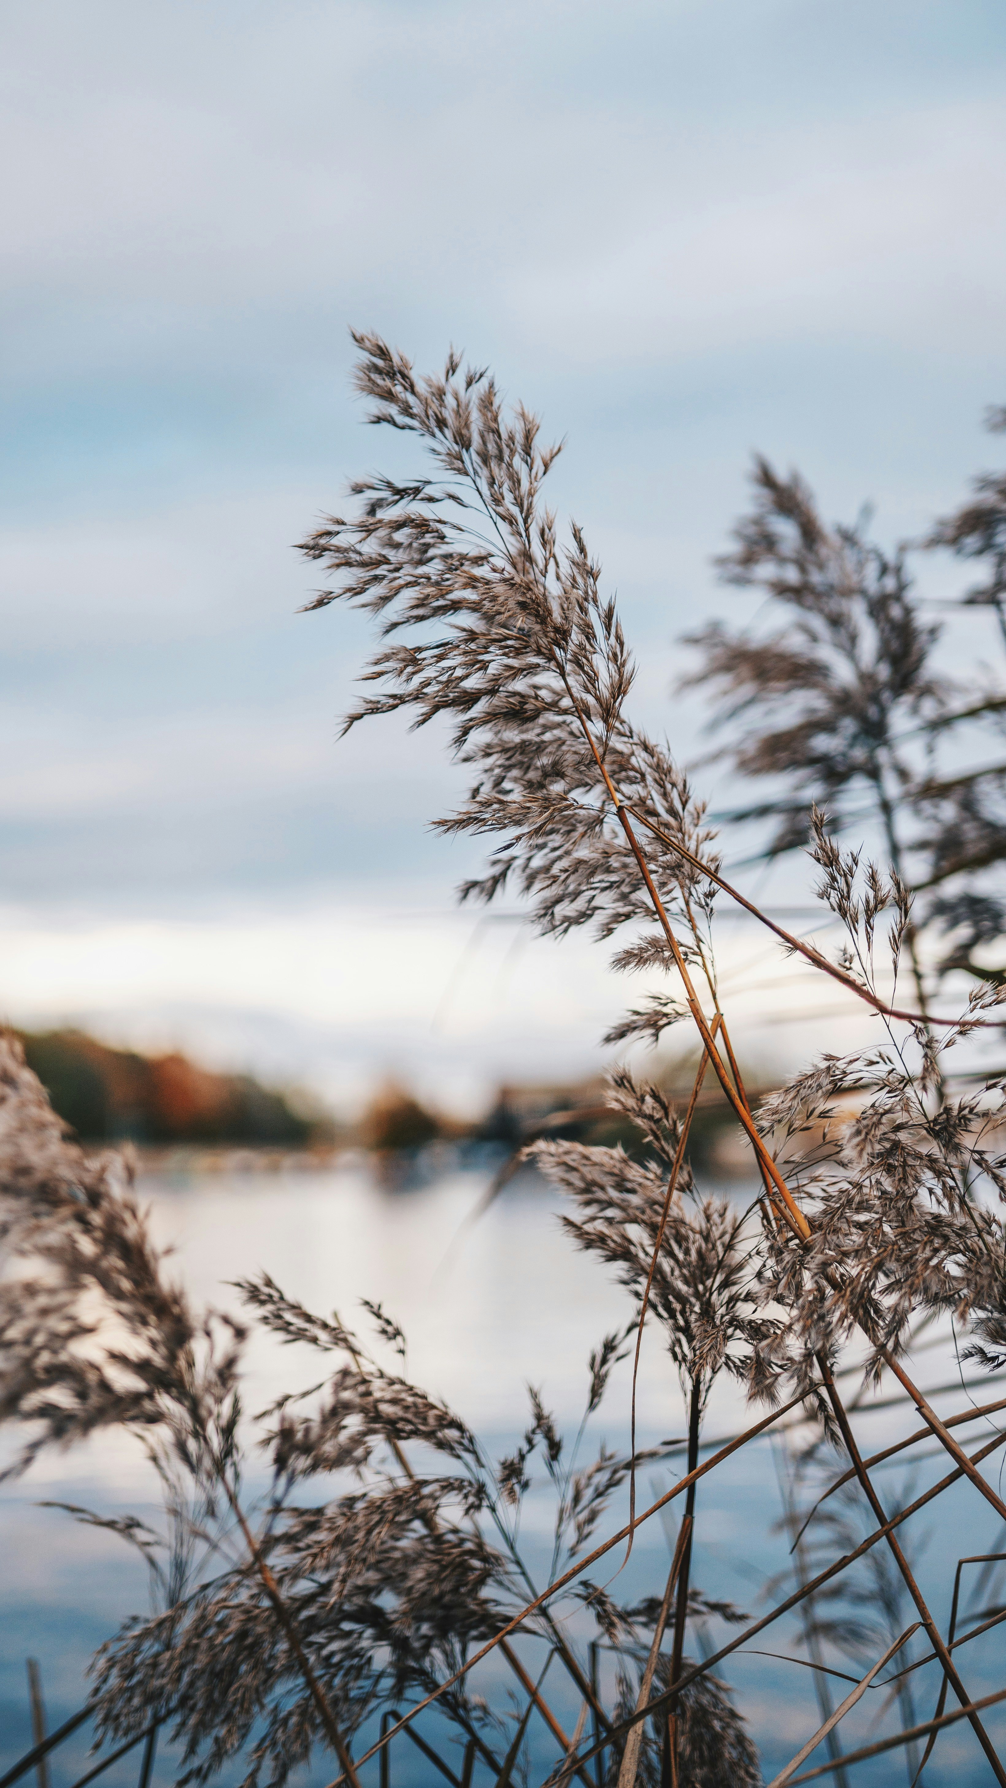
M336 1116L297 1087L268 1087L248 1073L220 1073L179 1051L143 1055L80 1030L16 1033L66 1132L86 1150L136 1150L143 1173L325 1173L354 1160L379 1164L382 1180L423 1184L463 1169L516 1171L516 1157L541 1139L622 1144L641 1137L608 1080L506 1082L475 1118L422 1105L395 1080L373 1087L357 1112ZM693 1062L654 1062L661 1092L688 1096ZM715 1177L747 1173L740 1130L718 1085L702 1087L692 1125L692 1159ZM752 1098L768 1091L747 1075ZM736 1134L734 1134L736 1132ZM734 1159L738 1157L738 1159Z

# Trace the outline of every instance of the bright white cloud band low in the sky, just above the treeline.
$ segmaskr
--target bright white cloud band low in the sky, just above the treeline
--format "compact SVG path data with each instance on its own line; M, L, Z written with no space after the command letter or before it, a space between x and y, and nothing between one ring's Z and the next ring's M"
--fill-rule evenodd
M407 910L379 896L189 923L39 924L11 908L0 1010L27 1026L79 1021L111 1041L209 1053L340 1105L390 1073L477 1110L500 1080L561 1084L624 1053L600 1037L659 982L611 974L608 955L491 912ZM829 1012L831 1046L838 1033L851 1048L870 1035L854 999L749 928L722 935L720 974L734 1041L759 1073L815 1048L801 1028L815 1008ZM688 1042L670 1037L672 1050ZM640 1064L652 1067L649 1051Z

